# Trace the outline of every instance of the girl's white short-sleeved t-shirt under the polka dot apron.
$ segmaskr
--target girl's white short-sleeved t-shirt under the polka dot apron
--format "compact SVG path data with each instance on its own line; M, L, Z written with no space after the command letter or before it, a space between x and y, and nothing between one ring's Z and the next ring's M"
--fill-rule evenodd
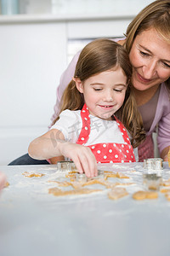
M99 119L93 115L90 118L90 134L88 142L85 146L96 143L125 143L122 133L116 123L116 120ZM81 110L71 111L65 110L59 114L59 120L51 127L61 131L66 141L77 143L80 132L82 131ZM128 136L129 133L127 132ZM130 136L129 136L130 138ZM136 160L138 157L138 149L133 149Z

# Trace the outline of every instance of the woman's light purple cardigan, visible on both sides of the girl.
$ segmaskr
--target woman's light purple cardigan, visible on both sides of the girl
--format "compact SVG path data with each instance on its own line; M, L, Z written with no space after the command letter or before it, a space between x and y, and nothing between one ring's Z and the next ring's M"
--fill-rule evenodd
M75 67L77 65L77 60L80 55L80 51L75 55L67 67L65 72L62 74L59 86L57 88L57 100L54 106L54 114L51 118L53 120L58 116L59 113L59 102L61 100L61 96L65 90L67 84L70 83L72 77L74 76ZM161 84L161 90L157 102L156 115L153 120L153 123L150 127L150 131L148 131L147 135L150 135L153 131L156 131L156 125L158 124L158 136L157 143L159 151L163 148L170 146L170 96L168 96L166 85ZM51 127L51 125L49 126Z

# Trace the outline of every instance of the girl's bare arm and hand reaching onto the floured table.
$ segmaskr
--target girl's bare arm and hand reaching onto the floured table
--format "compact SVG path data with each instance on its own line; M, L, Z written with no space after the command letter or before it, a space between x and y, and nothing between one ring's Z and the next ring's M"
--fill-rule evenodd
M64 155L74 161L78 172L85 172L88 177L97 176L98 173L97 162L91 149L66 142L62 132L57 129L52 129L33 140L29 145L28 154L37 160Z

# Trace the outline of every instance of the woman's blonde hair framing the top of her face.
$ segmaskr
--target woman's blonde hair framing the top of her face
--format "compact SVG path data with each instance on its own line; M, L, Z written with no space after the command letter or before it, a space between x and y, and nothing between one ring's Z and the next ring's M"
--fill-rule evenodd
M133 41L141 32L154 28L167 44L170 44L170 0L156 0L139 12L127 26L125 47L129 53ZM167 90L170 91L170 79L167 79Z

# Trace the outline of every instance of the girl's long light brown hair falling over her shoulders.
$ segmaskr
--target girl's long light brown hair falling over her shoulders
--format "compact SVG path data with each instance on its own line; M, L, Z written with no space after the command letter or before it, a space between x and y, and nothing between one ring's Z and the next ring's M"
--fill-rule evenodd
M127 50L122 45L106 38L100 38L87 44L78 58L74 78L79 78L82 82L96 75L97 73L121 67L127 76L127 91L122 108L115 114L122 120L132 136L132 145L137 147L144 140L145 133L143 122L139 114L133 92L131 88L132 66L129 61ZM65 109L82 109L84 99L82 93L77 90L74 80L66 87L61 99L60 113ZM57 118L59 119L59 117ZM54 123L56 120L54 120Z

